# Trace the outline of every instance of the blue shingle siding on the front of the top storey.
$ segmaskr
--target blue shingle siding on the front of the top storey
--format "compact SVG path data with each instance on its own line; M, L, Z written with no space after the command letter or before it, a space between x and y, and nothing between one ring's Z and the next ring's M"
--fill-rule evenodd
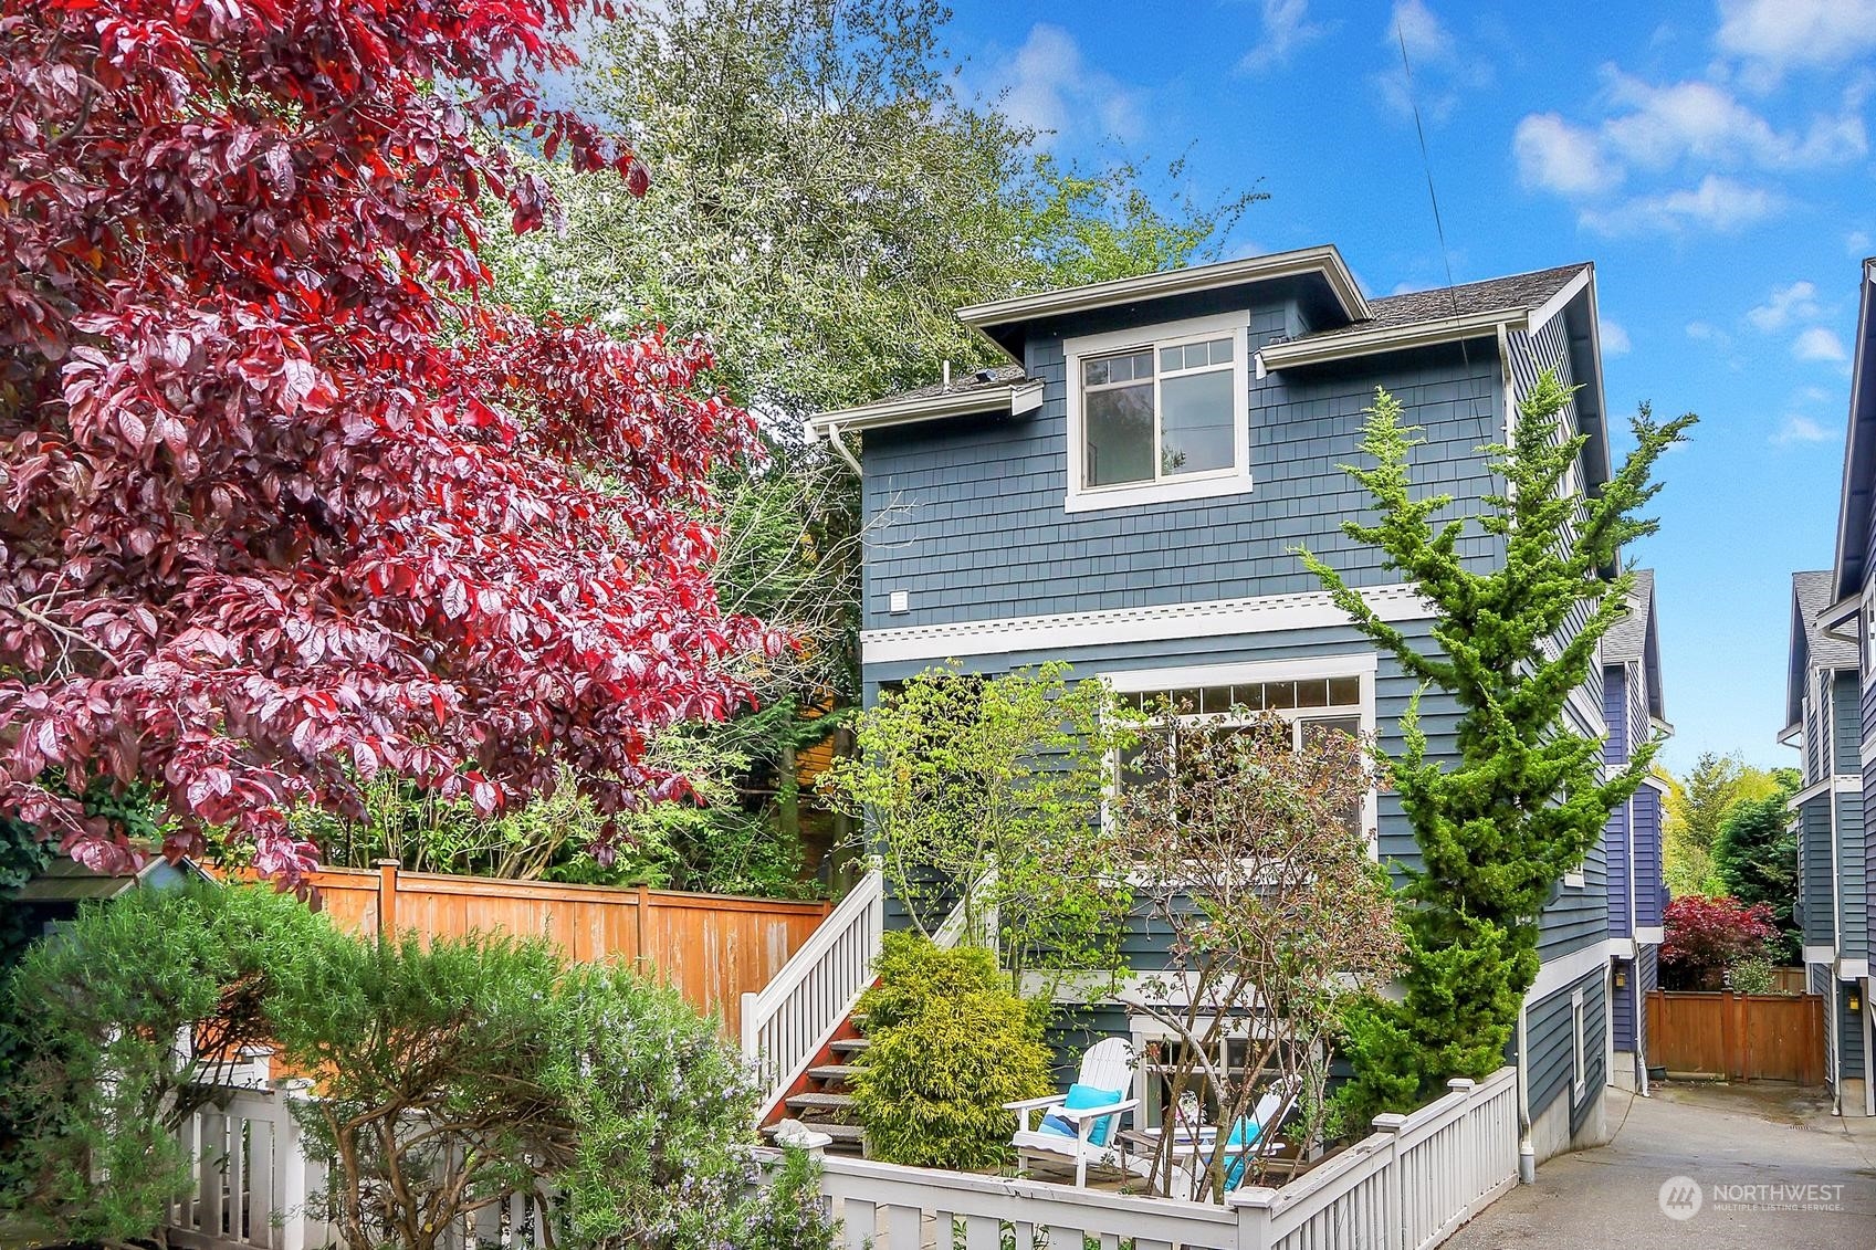
M1281 310L1253 310L1251 336L1285 325ZM1368 505L1339 465L1362 460L1377 385L1424 428L1426 445L1413 450L1422 490L1452 492L1454 514L1476 514L1480 497L1499 490L1476 450L1503 437L1497 358L1484 343L1469 358L1428 349L1253 377L1249 494L1075 514L1064 512L1062 340L1032 343L1028 368L1045 383L1043 405L1030 415L865 435L863 507L874 520L867 629L1317 591L1298 544L1351 584L1398 582L1379 552L1341 533ZM1490 567L1499 546L1475 533L1463 550ZM908 612L887 610L893 591L908 595Z

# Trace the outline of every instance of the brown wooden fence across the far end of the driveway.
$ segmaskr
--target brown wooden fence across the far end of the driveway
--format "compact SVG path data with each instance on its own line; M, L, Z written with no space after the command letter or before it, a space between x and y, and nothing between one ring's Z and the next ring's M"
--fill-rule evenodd
M1647 1051L1670 1074L1823 1085L1823 998L1657 989Z

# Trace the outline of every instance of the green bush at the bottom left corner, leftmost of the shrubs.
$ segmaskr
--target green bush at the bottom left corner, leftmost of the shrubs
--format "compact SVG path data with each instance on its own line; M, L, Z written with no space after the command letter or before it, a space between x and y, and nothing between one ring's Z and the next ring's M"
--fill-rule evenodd
M330 937L296 899L195 884L86 905L34 944L4 989L19 1019L0 1089L19 1132L6 1205L69 1241L154 1233L188 1190L174 1134L208 1102L218 1057L266 1040L278 970Z

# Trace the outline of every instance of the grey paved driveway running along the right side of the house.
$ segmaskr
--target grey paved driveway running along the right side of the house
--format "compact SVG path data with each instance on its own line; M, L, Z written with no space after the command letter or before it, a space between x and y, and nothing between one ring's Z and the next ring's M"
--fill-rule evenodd
M1608 1145L1550 1160L1446 1246L1876 1248L1876 1120L1837 1119L1822 1090L1790 1085L1608 1100Z

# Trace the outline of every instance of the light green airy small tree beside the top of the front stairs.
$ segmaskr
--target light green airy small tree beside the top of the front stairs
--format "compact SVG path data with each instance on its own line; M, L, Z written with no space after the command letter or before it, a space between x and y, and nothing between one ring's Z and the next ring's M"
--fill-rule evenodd
M1101 820L1107 762L1131 724L1099 681L1043 664L1000 678L930 668L855 721L822 786L865 818L891 892L932 937L961 903L964 942L1024 972L1107 972L1131 907L1127 852Z

